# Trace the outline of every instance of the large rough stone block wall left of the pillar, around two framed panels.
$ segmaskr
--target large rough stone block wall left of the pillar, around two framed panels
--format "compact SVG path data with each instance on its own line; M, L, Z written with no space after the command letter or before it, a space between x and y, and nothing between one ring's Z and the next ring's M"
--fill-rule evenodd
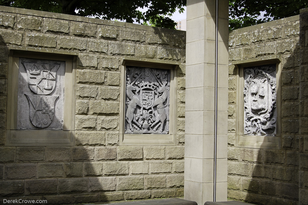
M183 196L185 32L4 6L0 12L1 200L57 204ZM12 46L77 54L74 146L6 146ZM174 145L119 146L124 57L177 64Z

